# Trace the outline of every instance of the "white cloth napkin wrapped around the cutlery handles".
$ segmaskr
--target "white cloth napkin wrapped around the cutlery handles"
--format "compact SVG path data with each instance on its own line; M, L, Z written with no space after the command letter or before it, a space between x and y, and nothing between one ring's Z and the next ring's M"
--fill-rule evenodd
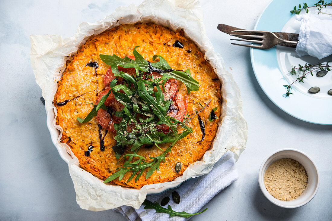
M322 12L332 14L328 8ZM316 14L295 16L301 22L296 52L300 57L310 55L322 59L332 54L332 16L317 15L317 10L311 13Z

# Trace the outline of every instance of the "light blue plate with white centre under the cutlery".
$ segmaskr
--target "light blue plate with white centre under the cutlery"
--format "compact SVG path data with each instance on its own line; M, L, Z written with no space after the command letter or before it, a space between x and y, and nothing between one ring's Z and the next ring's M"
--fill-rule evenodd
M295 5L298 6L300 3L302 4L302 2L302 0L272 1L259 17L254 29L274 32L282 31L285 24L293 17L290 10L292 10ZM316 2L317 0L306 1L308 5L314 5ZM324 91L321 90L319 93L313 95L307 92L307 89L310 88L310 86L308 87L308 85L310 85L309 83L294 83L294 90L291 91L293 95L290 95L289 97L284 96L286 89L283 85L289 85L291 83L289 80L290 78L286 78L287 75L290 74L288 74L289 70L285 72L285 70L280 68L280 61L278 63L277 56L280 56L280 51L278 52L278 50L285 50L288 51L290 57L303 61L303 64L306 62L315 64L312 60L316 60L318 63L318 59L310 56L299 58L295 53L295 49L287 47L278 47L278 49L274 47L267 50L252 48L250 50L251 63L257 81L272 102L286 113L300 120L314 124L332 124L332 96L327 95L325 88ZM325 60L320 60L320 62L326 60L332 62L332 56L325 58ZM288 65L297 66L297 64ZM281 70L283 70L283 72ZM312 79L309 79L309 77ZM315 81L321 81L321 83L325 83L325 87L330 87L330 89L332 89L332 72L329 72L322 78L317 78L315 76L309 77L307 82L312 83ZM307 88L305 88L305 86ZM320 85L315 86L320 87Z

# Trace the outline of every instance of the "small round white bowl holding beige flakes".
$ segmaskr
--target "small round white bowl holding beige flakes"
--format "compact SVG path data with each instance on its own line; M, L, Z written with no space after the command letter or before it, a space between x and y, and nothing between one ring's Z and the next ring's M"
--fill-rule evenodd
M308 184L305 188L304 192L297 197L296 199L292 200L280 200L275 197L273 197L266 189L264 184L264 174L266 169L270 166L271 163L273 163L276 160L282 159L282 158L290 158L293 160L296 160L307 171L308 175ZM270 200L272 203L274 203L277 206L284 207L284 208L296 208L305 205L308 203L317 193L318 187L319 187L319 172L316 164L313 162L313 160L302 151L296 150L296 149L280 149L269 156L267 156L261 167L259 168L259 174L258 174L258 182L259 187L261 188L261 191L265 195L265 197Z

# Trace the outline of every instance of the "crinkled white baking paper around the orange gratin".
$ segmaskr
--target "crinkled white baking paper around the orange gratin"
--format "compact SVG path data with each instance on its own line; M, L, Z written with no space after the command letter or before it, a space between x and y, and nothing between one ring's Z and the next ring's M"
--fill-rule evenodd
M145 185L140 190L133 190L104 184L102 180L79 167L78 159L69 146L59 141L63 131L55 124L56 109L52 101L57 89L57 80L65 70L66 61L77 52L89 36L97 35L120 24L134 24L140 21L151 21L173 30L183 28L186 35L205 53L205 58L219 76L224 102L222 120L213 147L204 154L201 161L190 165L182 176L172 182ZM244 150L247 141L247 123L242 115L240 90L231 74L224 69L221 56L213 51L206 35L203 12L198 1L146 0L139 6L132 4L129 7L119 7L114 14L96 23L83 22L76 34L69 38L63 39L60 35L31 35L30 38L31 63L36 82L41 87L45 99L47 126L61 157L66 162L69 161L76 200L82 209L101 211L122 205L138 209L147 193L157 193L169 187L176 187L189 178L208 173L227 150L233 151L236 158ZM70 156L66 151L70 153L72 159L69 160Z

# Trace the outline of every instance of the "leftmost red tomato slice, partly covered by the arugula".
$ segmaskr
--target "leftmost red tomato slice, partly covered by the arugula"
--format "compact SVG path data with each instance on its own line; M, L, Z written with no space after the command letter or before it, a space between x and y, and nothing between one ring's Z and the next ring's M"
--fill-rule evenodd
M98 94L96 104L99 103L100 99L105 94L107 94L108 91L109 91L109 89L104 90ZM121 117L117 117L117 116L113 115L112 112L121 111L124 108L124 105L115 99L113 93L110 93L110 95L107 97L107 99L105 101L105 105L108 107L108 110L104 110L104 109L98 110L97 116L96 116L97 122L103 128L115 132L114 124L120 123Z

